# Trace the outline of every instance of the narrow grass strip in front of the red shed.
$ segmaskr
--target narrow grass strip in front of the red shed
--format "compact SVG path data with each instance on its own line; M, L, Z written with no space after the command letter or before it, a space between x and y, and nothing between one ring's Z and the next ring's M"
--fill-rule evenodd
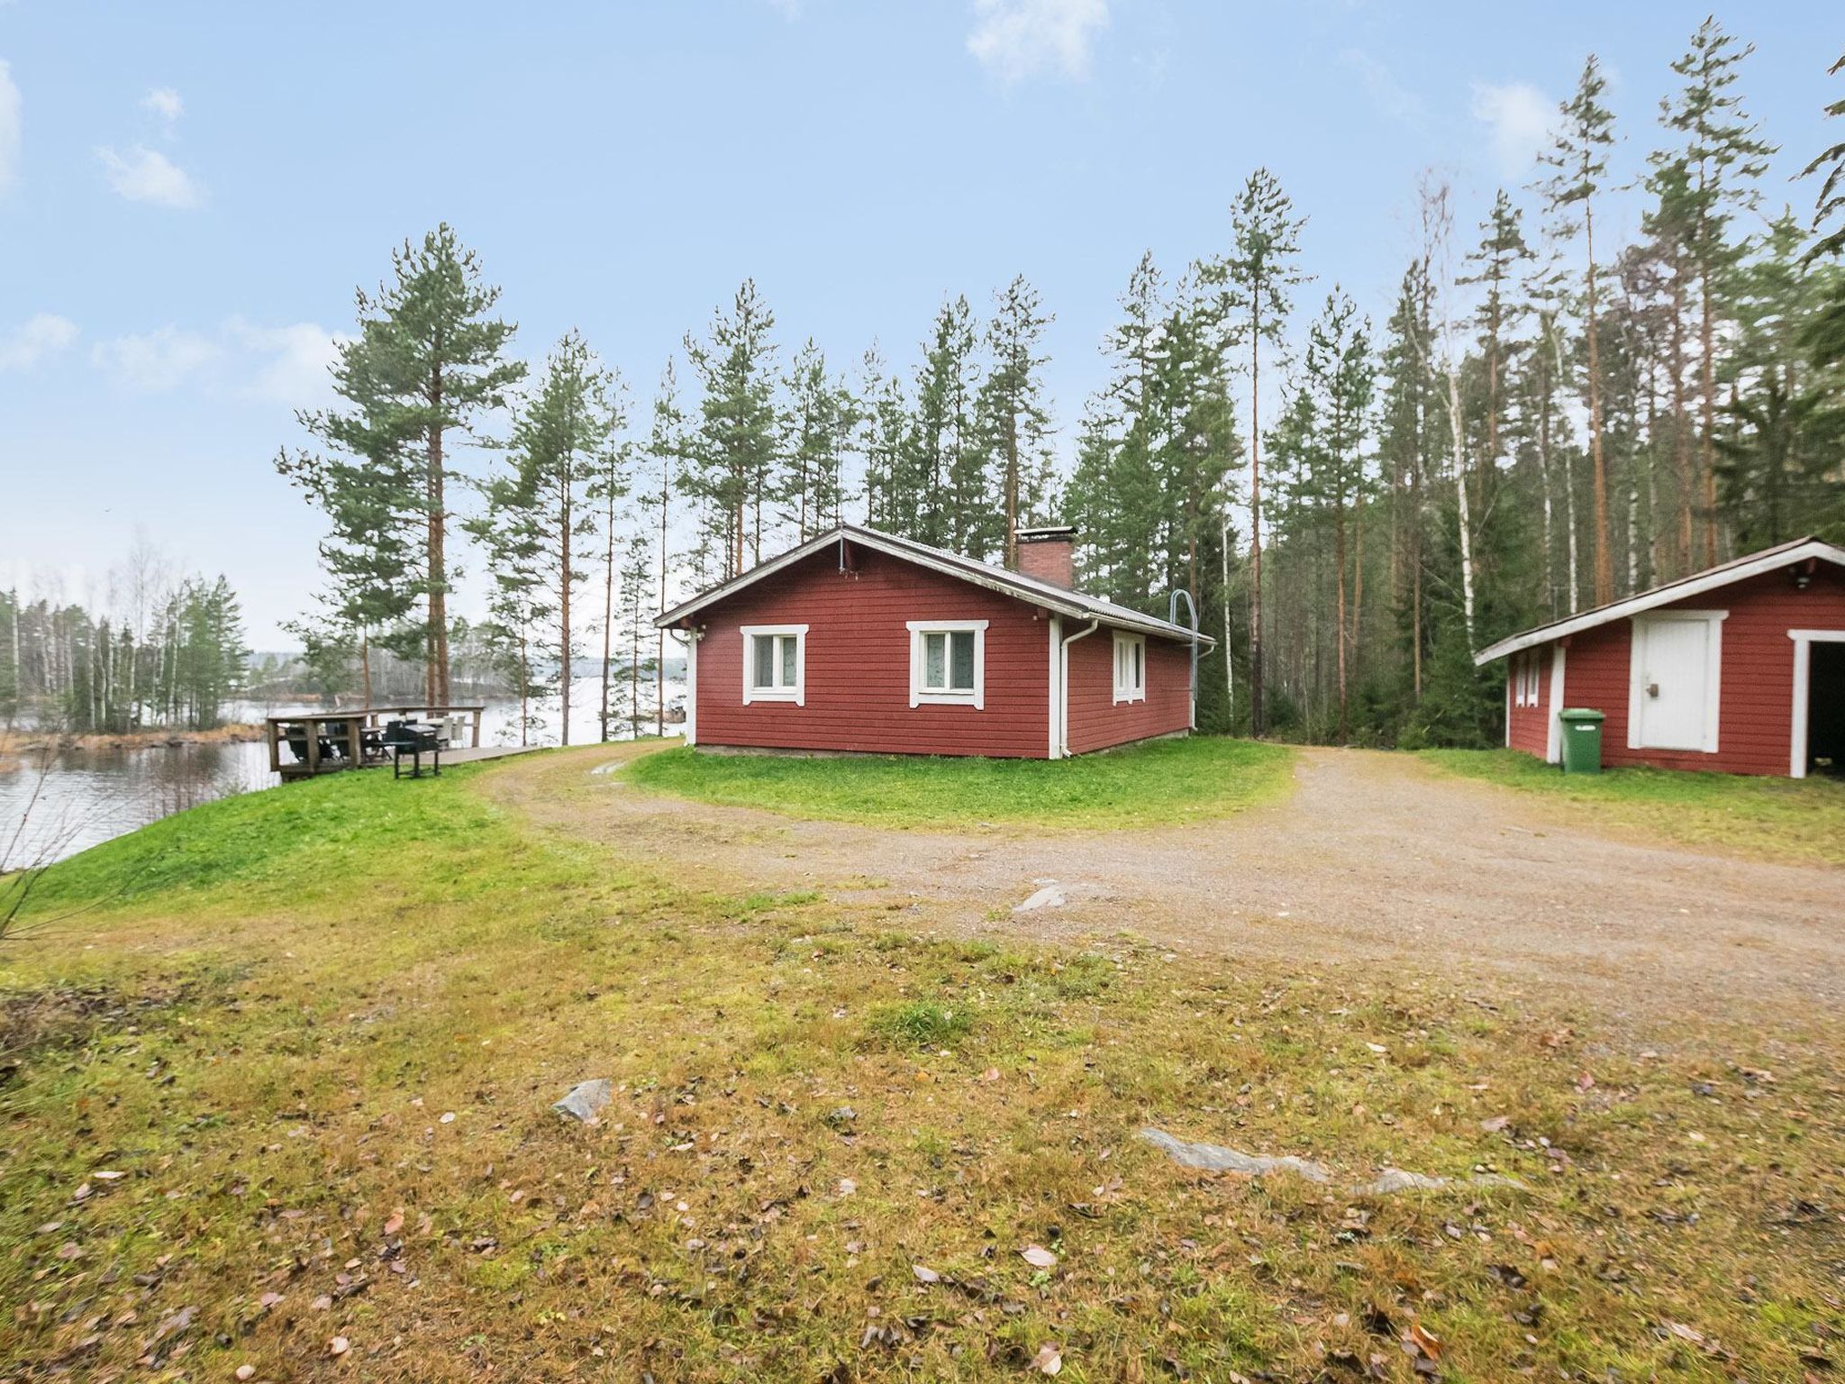
M1565 775L1515 749L1424 749L1421 755L1469 779L1581 805L1592 819L1613 827L1760 858L1845 865L1845 782L1673 770Z

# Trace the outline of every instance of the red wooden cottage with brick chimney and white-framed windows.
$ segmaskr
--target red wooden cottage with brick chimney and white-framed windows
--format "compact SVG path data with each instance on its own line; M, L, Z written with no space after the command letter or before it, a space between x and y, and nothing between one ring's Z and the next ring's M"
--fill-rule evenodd
M1074 530L1009 572L858 524L662 613L686 742L1063 758L1194 723L1212 640L1074 589Z

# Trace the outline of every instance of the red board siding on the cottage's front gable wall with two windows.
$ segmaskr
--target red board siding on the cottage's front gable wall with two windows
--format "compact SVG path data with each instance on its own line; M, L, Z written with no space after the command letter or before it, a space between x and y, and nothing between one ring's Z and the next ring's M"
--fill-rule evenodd
M836 548L699 613L697 742L893 755L1050 755L1044 611L878 552ZM987 620L985 705L910 705L910 620ZM740 626L804 624L806 705L744 705Z

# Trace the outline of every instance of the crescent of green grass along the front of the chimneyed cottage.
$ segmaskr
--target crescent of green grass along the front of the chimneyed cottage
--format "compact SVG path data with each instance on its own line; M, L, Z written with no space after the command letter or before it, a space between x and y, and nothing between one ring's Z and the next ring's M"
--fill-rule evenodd
M1066 760L810 758L681 747L638 758L624 773L675 797L880 827L1162 827L1280 797L1293 782L1293 751L1221 736L1155 740Z

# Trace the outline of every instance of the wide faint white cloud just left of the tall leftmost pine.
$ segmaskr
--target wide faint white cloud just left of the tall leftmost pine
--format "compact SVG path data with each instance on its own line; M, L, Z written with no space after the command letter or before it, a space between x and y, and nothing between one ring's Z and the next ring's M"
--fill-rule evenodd
M196 386L205 393L260 399L290 408L327 400L327 367L347 338L319 323L262 327L229 317L214 332L161 327L118 336L90 351L90 360L131 393L170 393Z

